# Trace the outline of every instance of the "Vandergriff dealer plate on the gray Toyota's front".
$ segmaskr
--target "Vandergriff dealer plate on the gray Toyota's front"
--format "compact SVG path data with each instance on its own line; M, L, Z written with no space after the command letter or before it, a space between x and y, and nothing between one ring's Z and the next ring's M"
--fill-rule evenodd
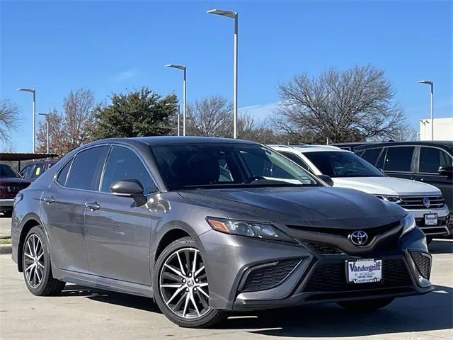
M382 280L382 260L358 259L346 261L348 283L370 283Z

